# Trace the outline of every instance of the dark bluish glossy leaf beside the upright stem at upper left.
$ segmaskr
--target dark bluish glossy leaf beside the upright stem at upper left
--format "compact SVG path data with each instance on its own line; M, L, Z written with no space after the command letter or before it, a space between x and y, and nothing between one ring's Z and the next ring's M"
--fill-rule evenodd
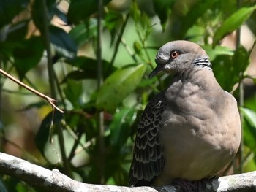
M78 51L78 46L75 41L62 28L50 26L50 42L53 43L56 51L66 57L75 58Z

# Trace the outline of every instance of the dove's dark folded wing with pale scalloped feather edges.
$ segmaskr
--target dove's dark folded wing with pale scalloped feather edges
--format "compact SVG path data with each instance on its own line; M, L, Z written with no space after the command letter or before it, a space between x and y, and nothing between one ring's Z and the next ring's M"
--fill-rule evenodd
M129 170L129 185L151 185L162 173L165 157L159 143L161 115L165 108L164 92L149 101L140 118L135 139L132 165Z

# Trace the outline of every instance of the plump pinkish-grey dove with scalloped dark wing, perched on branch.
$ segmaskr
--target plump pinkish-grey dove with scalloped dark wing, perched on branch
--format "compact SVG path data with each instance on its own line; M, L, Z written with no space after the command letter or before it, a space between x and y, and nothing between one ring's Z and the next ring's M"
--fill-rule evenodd
M230 164L241 142L236 99L214 77L205 50L177 40L159 48L159 72L170 84L146 105L138 123L130 186L207 180Z

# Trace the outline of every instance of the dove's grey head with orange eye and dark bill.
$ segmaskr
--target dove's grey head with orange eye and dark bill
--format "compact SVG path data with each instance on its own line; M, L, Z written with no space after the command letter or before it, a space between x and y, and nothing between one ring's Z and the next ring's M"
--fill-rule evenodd
M205 50L194 42L167 42L159 48L155 58L157 67L149 74L149 77L154 77L161 71L172 74L184 72L194 67L194 62L200 58L208 60L208 55Z

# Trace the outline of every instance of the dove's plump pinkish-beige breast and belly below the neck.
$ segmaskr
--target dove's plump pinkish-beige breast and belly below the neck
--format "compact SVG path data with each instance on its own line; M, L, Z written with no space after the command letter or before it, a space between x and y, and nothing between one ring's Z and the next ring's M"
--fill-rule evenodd
M200 85L183 84L173 90L176 93L167 91L165 95L167 106L159 134L165 151L161 180L214 177L238 150L241 130L236 101L225 91L213 94ZM229 102L227 112L218 115L222 111L219 108Z

